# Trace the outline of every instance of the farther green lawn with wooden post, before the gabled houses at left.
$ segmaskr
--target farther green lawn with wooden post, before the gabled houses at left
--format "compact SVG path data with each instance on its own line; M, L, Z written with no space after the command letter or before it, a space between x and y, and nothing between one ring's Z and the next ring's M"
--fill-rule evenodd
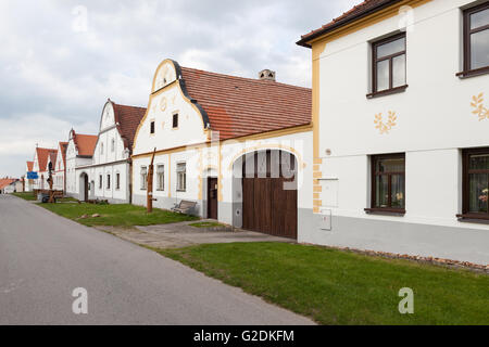
M60 216L76 220L77 222L93 226L151 226L173 223L186 220L197 220L198 217L175 214L168 210L153 208L152 214L147 214L145 207L128 204L121 205L93 205L93 204L39 204ZM99 214L100 217L92 218L91 215ZM80 219L83 215L89 218Z

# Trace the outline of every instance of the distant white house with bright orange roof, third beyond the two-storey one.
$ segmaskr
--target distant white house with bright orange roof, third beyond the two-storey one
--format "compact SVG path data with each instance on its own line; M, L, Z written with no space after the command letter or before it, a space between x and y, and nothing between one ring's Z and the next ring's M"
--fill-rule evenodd
M75 130L70 131L68 143L66 146L66 194L76 198L84 200L85 191L88 192L88 180L76 175L76 168L91 164L93 151L98 137L95 134L76 133Z

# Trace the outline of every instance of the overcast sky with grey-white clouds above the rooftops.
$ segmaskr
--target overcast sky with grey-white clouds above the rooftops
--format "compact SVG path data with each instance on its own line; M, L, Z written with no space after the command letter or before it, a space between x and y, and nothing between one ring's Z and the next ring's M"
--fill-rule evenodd
M21 177L36 143L97 134L108 98L147 106L158 64L311 86L294 42L361 0L0 2L0 177Z

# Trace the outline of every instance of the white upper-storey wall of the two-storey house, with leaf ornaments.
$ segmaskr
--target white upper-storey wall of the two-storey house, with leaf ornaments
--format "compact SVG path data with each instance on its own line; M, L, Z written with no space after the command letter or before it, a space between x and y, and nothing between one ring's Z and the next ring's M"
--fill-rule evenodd
M489 77L455 77L462 69L457 5L465 3L437 0L414 9L415 24L406 35L410 87L404 93L365 98L371 92L368 42L394 33L399 17L326 46L319 68L321 156L326 149L341 156L487 144L489 123L472 114L471 100L480 92L489 95ZM383 113L386 118L388 111L397 113L398 126L389 136L379 136L374 116Z

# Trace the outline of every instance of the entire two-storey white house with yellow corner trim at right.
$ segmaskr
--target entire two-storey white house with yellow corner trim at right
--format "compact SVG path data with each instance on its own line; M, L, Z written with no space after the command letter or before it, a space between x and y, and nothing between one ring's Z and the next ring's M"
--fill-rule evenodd
M489 264L489 2L369 2L298 42L315 164L299 241Z

